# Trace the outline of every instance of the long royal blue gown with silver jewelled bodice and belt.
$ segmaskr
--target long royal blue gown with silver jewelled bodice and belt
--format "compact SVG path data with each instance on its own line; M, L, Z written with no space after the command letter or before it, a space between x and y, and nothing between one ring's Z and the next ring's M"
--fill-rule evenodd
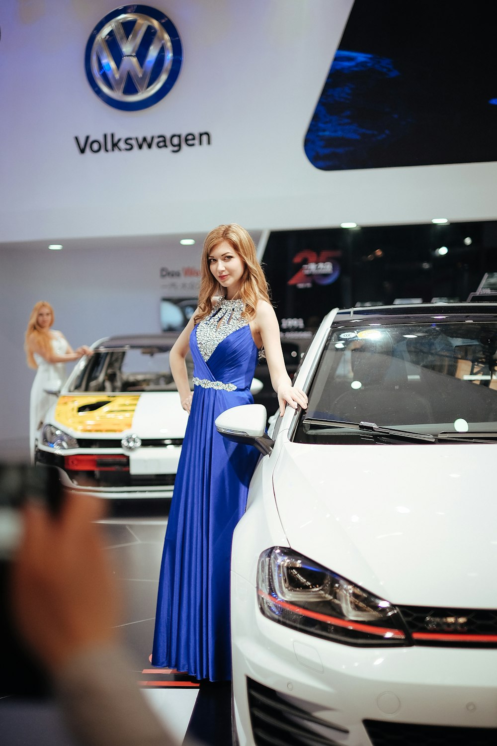
M190 336L194 394L165 533L152 665L231 678L229 562L259 453L219 435L216 417L252 404L258 350L242 301L222 299Z

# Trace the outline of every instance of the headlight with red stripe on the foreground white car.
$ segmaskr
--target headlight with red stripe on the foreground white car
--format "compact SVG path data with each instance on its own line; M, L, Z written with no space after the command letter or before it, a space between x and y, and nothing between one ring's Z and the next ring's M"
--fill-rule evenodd
M291 549L262 552L259 609L295 630L348 645L411 645L397 609Z

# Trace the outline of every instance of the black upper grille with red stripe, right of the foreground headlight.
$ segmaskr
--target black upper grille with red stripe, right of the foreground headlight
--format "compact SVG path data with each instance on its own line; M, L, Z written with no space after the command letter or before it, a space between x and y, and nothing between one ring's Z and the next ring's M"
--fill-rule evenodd
M414 645L497 648L495 609L397 606Z

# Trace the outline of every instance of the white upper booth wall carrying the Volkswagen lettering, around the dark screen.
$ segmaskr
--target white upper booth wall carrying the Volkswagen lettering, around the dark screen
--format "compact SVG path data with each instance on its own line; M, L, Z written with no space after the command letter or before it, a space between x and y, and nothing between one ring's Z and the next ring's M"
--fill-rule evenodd
M101 101L84 67L112 1L4 0L0 243L208 231L229 219L273 229L493 219L496 163L321 171L309 162L304 138L352 4L160 0L183 66L162 101L129 112ZM210 145L176 153L81 154L75 140L203 132Z

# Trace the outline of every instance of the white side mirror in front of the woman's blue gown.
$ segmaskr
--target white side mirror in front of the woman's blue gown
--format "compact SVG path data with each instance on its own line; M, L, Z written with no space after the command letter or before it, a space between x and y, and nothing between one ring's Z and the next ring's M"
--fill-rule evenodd
M218 433L235 443L254 445L263 456L273 450L274 441L266 433L268 413L262 404L242 404L225 410L215 419Z

